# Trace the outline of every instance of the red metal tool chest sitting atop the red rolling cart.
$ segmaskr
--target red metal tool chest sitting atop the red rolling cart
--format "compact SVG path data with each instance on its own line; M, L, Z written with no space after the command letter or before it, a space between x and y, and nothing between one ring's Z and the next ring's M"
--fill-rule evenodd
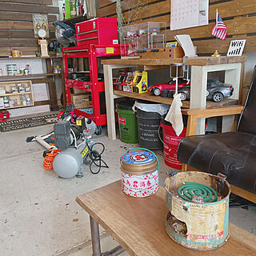
M94 18L86 22L77 23L75 30L78 46L118 44L117 18Z

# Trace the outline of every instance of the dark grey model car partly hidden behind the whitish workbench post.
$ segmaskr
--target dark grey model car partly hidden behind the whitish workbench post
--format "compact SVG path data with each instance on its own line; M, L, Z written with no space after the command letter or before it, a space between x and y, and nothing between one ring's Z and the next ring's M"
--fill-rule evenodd
M224 98L229 98L233 94L234 88L232 85L219 82L218 80L208 79L206 99L214 102L222 102ZM181 94L181 100L185 101L190 98L190 86L184 86L178 90Z

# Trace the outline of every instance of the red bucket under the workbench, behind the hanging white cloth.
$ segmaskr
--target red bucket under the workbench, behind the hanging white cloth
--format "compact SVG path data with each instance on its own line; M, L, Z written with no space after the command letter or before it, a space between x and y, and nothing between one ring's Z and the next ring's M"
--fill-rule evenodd
M164 118L165 117L161 118L160 126L162 127L162 140L164 142L163 152L166 166L182 170L182 162L178 162L177 159L177 150L179 142L182 138L186 137L186 127L184 127L182 133L177 136L170 122L166 122ZM184 126L186 126L187 117L183 115L182 118Z

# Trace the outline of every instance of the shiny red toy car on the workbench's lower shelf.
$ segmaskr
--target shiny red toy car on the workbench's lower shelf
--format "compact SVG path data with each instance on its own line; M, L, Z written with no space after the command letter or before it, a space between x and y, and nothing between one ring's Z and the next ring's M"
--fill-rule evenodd
M184 86L190 86L190 80L187 80L186 78L178 78L178 89ZM154 96L159 96L162 90L175 90L175 87L176 81L171 80L168 83L159 83L157 85L150 86L148 93L153 93Z

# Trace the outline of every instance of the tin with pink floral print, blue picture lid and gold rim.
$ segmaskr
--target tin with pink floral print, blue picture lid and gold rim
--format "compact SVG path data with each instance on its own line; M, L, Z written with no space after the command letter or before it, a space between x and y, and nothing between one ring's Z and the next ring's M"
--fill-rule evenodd
M122 191L145 198L158 191L158 160L149 151L136 150L122 155Z

